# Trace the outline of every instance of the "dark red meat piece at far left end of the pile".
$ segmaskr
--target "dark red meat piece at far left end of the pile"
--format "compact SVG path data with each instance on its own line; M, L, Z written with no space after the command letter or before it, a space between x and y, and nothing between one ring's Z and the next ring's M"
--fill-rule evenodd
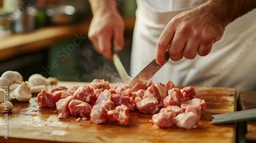
M55 91L56 93L48 93L45 89L42 89L37 94L37 104L39 107L55 107L56 102L63 99L61 91ZM60 92L60 93L57 93ZM65 91L66 92L66 91Z

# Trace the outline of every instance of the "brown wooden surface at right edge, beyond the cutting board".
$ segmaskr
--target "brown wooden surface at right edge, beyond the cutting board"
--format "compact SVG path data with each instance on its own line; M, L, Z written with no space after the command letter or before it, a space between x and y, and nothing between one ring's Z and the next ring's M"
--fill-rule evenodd
M256 108L256 91L241 92L240 105L242 110ZM246 140L248 142L256 142L256 120L246 122Z

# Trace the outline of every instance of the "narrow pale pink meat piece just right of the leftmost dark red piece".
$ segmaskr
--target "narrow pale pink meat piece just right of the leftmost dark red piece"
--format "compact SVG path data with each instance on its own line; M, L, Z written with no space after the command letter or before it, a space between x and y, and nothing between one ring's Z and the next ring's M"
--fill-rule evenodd
M56 102L56 109L59 112L58 118L66 118L71 114L69 110L69 103L74 100L74 96L69 96L66 99L60 99Z

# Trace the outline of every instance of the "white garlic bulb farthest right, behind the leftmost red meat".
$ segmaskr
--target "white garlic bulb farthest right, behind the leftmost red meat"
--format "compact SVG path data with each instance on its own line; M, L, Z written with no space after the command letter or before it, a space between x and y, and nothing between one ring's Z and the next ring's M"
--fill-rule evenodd
M50 83L47 81L47 78L40 74L34 74L29 77L29 85L30 86L37 86L37 85L49 85Z

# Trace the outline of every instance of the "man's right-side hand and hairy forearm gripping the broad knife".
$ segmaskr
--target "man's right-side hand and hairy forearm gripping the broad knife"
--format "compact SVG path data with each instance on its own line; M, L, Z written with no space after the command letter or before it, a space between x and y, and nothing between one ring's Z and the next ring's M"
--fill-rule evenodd
M244 1L255 3L254 0ZM212 44L222 38L228 23L253 9L251 7L253 4L238 6L237 3L242 2L210 0L197 8L175 16L159 37L156 50L157 63L163 63L166 50L173 61L178 61L183 57L194 59L197 53L200 56L208 55ZM248 10L246 11L243 6ZM242 7L242 9L238 12L236 7ZM232 14L232 12L237 13Z

